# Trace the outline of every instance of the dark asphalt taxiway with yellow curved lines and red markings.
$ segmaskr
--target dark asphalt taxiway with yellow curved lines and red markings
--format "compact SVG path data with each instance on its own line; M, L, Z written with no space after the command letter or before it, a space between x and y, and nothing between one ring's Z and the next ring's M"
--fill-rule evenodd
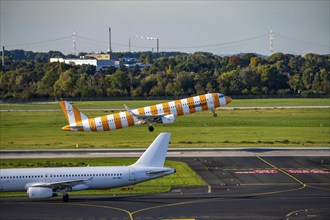
M182 157L207 183L152 195L0 198L0 219L329 219L330 157Z

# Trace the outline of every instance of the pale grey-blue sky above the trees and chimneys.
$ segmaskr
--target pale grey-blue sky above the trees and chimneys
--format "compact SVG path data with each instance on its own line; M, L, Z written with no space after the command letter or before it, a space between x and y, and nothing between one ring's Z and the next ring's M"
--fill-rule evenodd
M330 0L0 0L0 45L69 54L205 51L330 54ZM147 37L152 37L147 40ZM129 47L129 41L131 47Z

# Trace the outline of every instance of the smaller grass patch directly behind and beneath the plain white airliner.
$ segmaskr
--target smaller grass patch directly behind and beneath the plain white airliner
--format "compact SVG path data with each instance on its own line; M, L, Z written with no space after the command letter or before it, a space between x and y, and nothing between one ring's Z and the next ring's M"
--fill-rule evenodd
M32 168L32 167L72 167L72 166L124 166L133 164L135 158L72 158L68 159L1 159L0 168ZM166 160L166 167L176 169L176 173L135 186L122 187L111 190L91 190L74 192L70 194L126 194L126 193L157 193L166 192L171 187L204 186L201 180L185 163ZM0 196L26 195L25 192L1 192Z

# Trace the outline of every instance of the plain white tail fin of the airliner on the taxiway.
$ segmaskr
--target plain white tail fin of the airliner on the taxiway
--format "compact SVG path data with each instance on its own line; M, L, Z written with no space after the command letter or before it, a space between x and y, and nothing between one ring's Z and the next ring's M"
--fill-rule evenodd
M134 166L163 167L171 133L160 133Z

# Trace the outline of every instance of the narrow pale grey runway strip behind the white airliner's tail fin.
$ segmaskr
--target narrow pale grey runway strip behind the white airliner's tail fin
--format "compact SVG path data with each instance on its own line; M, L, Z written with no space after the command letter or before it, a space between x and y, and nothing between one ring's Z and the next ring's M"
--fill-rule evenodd
M62 150L0 150L0 158L90 158L140 157L145 148L134 149L62 149ZM167 157L254 157L258 156L328 156L329 147L313 148L169 148Z

